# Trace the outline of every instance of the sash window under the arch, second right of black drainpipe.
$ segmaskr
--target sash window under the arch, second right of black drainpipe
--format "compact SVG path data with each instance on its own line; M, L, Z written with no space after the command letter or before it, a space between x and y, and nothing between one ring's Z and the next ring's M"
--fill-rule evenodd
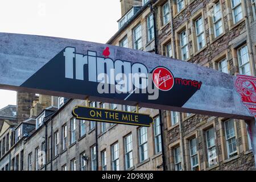
M197 148L196 148L196 138L189 140L189 154L191 162L191 170L198 171L198 157L197 157Z

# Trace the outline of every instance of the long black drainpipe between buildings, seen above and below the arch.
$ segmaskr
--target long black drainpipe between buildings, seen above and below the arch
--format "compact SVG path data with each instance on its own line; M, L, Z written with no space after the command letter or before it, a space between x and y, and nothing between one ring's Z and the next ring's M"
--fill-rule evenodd
M156 20L155 20L155 11L152 7L152 2L150 3L150 11L153 15L153 21L154 21L154 38L155 38L155 54L158 54L158 42L156 39ZM166 171L166 159L165 159L165 150L164 150L164 138L163 138L163 120L162 120L162 110L159 109L159 120L160 120L160 130L161 130L161 147L162 147L162 160L163 160L163 171Z

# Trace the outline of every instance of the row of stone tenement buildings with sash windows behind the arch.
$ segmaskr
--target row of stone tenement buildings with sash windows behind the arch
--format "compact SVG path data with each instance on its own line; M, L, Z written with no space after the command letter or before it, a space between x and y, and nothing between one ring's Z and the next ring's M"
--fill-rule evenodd
M119 30L108 44L255 76L253 0L121 0L121 7ZM29 103L36 119L35 131L20 140L24 170L163 170L163 164L167 170L255 170L245 121L162 111L162 141L159 110L138 108L154 118L144 128L80 121L71 114L76 105L137 111L135 106L59 98L56 110L53 97ZM49 107L55 109L42 120Z

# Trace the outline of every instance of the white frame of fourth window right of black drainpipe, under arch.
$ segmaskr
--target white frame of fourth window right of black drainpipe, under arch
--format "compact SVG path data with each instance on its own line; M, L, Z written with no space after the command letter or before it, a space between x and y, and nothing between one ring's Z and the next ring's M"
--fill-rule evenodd
M232 136L228 136L228 128L227 128L227 124L228 123L228 127L230 127L230 124L232 124L233 127L233 135ZM234 120L233 119L228 119L227 121L224 122L224 126L225 126L225 138L226 138L226 150L227 150L227 154L228 154L228 158L230 158L232 155L237 154L237 139L236 139L236 130L235 130L235 125L234 125ZM229 149L229 142L232 142L232 146L233 146L233 142L235 144L236 150L234 151L230 151Z

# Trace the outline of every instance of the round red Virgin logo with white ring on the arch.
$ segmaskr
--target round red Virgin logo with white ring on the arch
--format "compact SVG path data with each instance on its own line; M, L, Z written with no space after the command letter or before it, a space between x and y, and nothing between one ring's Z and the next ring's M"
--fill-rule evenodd
M174 76L164 67L157 67L154 69L152 80L155 86L162 91L171 90L174 86Z

